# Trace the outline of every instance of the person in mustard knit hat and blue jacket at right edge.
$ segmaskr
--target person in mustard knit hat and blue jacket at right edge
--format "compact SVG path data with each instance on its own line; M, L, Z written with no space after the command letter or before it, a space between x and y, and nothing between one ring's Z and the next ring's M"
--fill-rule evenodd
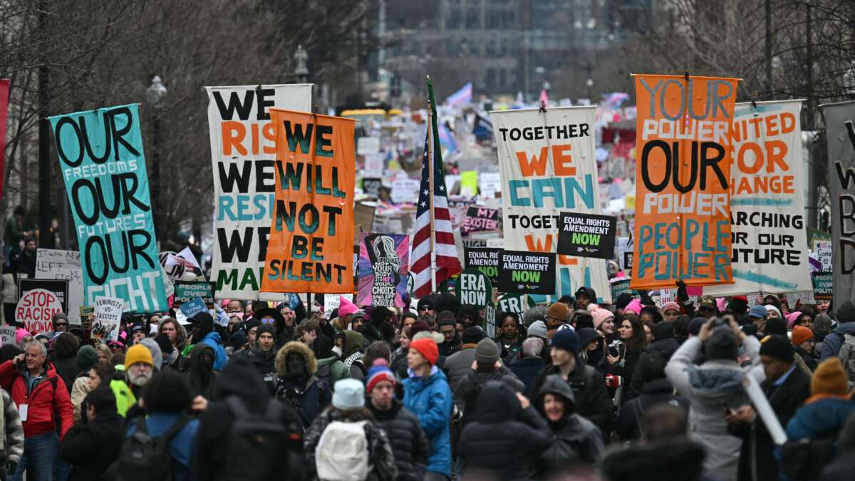
M783 481L817 479L837 455L837 439L855 413L840 359L826 359L811 376L811 397L787 423L787 444L775 448Z

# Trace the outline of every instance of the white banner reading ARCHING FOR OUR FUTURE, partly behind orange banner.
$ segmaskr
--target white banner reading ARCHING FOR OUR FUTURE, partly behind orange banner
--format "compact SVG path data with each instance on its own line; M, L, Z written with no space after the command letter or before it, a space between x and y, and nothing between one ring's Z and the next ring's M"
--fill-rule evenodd
M736 104L730 138L733 284L716 297L810 291L800 100Z

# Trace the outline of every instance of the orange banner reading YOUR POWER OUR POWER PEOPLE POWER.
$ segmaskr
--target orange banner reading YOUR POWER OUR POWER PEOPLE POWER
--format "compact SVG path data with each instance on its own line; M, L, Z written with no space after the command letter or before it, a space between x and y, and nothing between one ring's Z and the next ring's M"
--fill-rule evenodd
M728 141L739 79L636 75L630 287L733 282Z

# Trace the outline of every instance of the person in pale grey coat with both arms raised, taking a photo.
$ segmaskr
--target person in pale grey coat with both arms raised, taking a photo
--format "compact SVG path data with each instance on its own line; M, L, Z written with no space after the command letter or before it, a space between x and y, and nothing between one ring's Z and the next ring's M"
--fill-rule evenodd
M737 362L740 345L751 358L745 368ZM695 365L701 348L704 364ZM705 471L722 479L736 479L742 446L740 438L728 432L725 416L748 404L742 380L759 363L760 341L746 336L734 321L724 324L723 319L711 318L665 366L665 376L689 401L689 432L706 448Z

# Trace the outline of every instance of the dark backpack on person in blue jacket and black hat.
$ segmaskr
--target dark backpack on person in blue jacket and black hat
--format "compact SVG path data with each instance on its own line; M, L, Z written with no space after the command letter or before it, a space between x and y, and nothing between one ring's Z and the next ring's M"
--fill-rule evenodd
M117 479L172 481L176 461L169 453L169 442L184 428L188 420L186 416L181 416L162 436L151 437L145 428L145 418L140 416L137 419L137 431L121 444Z

